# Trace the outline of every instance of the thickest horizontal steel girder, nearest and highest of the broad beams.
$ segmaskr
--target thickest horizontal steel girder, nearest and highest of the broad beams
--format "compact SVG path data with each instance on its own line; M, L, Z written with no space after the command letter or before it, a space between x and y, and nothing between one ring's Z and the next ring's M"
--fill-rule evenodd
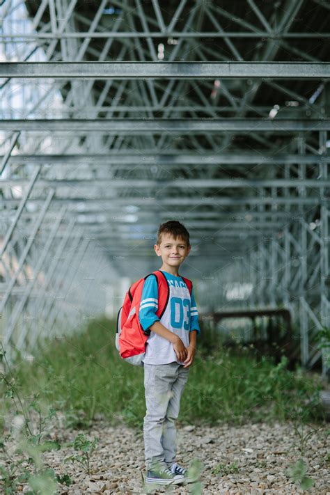
M62 79L327 79L327 62L2 62L0 77Z

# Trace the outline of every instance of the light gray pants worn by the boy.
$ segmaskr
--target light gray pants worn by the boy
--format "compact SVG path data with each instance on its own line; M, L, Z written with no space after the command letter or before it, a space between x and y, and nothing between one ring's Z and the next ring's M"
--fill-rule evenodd
M143 437L146 469L157 463L171 466L176 455L175 419L187 383L189 368L173 361L168 364L144 363L146 416L143 418Z

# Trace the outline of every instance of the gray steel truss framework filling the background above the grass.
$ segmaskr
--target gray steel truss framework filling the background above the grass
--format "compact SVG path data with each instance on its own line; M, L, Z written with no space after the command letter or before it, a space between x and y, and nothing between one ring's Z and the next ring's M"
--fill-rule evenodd
M198 308L285 306L329 353L329 20L317 0L7 0L0 17L8 359L115 315L191 234Z

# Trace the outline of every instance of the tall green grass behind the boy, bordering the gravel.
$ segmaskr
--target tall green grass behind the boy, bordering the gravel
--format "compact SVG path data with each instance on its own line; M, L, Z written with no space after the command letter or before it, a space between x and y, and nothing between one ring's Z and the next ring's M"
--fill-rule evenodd
M115 347L116 322L94 320L80 334L48 340L34 362L17 360L15 386L26 402L34 393L47 407L65 413L68 426L87 427L95 414L141 428L146 414L143 368L125 363ZM205 330L207 331L207 330ZM277 366L249 347L226 349L220 340L205 350L198 342L181 401L182 424L244 424L320 417L321 384L301 369ZM3 388L4 384L1 384ZM8 406L10 398L6 399Z

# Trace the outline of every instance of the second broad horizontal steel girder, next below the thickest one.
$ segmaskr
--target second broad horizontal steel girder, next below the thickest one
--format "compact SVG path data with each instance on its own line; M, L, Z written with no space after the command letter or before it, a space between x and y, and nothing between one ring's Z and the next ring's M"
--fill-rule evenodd
M0 64L1 65L1 64ZM330 129L330 118L316 119L275 119L268 118L189 118L189 119L7 119L0 120L2 131L38 131L38 132L104 132L119 133L152 133L164 132L226 132L226 131L325 131Z

